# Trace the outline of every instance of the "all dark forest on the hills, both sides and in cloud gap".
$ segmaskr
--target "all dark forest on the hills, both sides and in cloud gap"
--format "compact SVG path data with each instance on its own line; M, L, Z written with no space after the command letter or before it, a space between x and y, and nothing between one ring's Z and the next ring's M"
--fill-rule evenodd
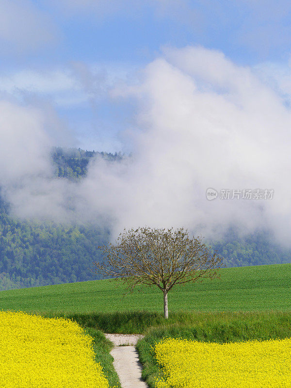
M96 155L110 162L124 157L121 153L55 147L51 158L56 178L81 179ZM109 239L106 228L12 218L9 205L0 198L0 290L98 279L88 268L102 257L97 246ZM228 267L291 262L291 250L273 243L267 231L238 239L230 228L224 240L206 243L225 258Z

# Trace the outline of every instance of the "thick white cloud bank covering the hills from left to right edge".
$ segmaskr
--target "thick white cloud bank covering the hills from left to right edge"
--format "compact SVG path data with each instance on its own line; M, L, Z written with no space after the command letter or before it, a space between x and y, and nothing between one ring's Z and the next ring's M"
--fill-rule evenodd
M41 113L1 103L0 185L14 214L106 223L113 240L145 225L220 238L235 224L242 235L270 228L290 244L291 111L254 71L220 51L168 48L112 96L138 101L124 133L133 158L96 159L77 183L52 178L53 136ZM209 187L274 189L274 198L208 201Z

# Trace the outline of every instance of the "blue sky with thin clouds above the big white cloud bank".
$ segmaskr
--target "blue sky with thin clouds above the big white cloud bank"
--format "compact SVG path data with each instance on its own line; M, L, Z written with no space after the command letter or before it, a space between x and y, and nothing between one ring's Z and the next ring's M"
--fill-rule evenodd
M289 80L291 3L237 0L0 0L2 98L53 111L63 146L130 151L134 83L167 47L220 50L261 77ZM284 84L286 82L283 82ZM289 93L289 89L284 93Z

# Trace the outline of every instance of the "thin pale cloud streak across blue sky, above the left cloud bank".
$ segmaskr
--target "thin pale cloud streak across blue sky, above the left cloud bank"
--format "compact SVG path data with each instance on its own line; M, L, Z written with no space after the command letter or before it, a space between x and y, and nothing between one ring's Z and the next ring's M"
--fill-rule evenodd
M127 64L71 62L62 68L22 69L0 76L0 92L22 98L49 97L60 107L81 106L88 99L108 97L116 82L125 81L134 67Z

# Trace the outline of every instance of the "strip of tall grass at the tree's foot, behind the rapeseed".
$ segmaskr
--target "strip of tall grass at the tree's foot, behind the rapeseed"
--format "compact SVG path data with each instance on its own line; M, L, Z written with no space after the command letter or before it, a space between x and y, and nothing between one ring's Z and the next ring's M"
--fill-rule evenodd
M35 312L37 314L37 312ZM278 336L291 334L291 310L267 311L178 311L173 312L169 319L164 319L162 313L149 311L128 311L112 313L42 313L47 318L63 317L76 321L84 328L94 328L105 333L145 334L158 330L162 334L171 332L178 335L191 334L193 339L214 340L221 339L244 340L244 335L252 334L254 338L265 338L270 333ZM268 329L268 330L267 330ZM266 331L267 330L267 331ZM234 337L233 337L234 336ZM190 338L190 337L189 337Z

